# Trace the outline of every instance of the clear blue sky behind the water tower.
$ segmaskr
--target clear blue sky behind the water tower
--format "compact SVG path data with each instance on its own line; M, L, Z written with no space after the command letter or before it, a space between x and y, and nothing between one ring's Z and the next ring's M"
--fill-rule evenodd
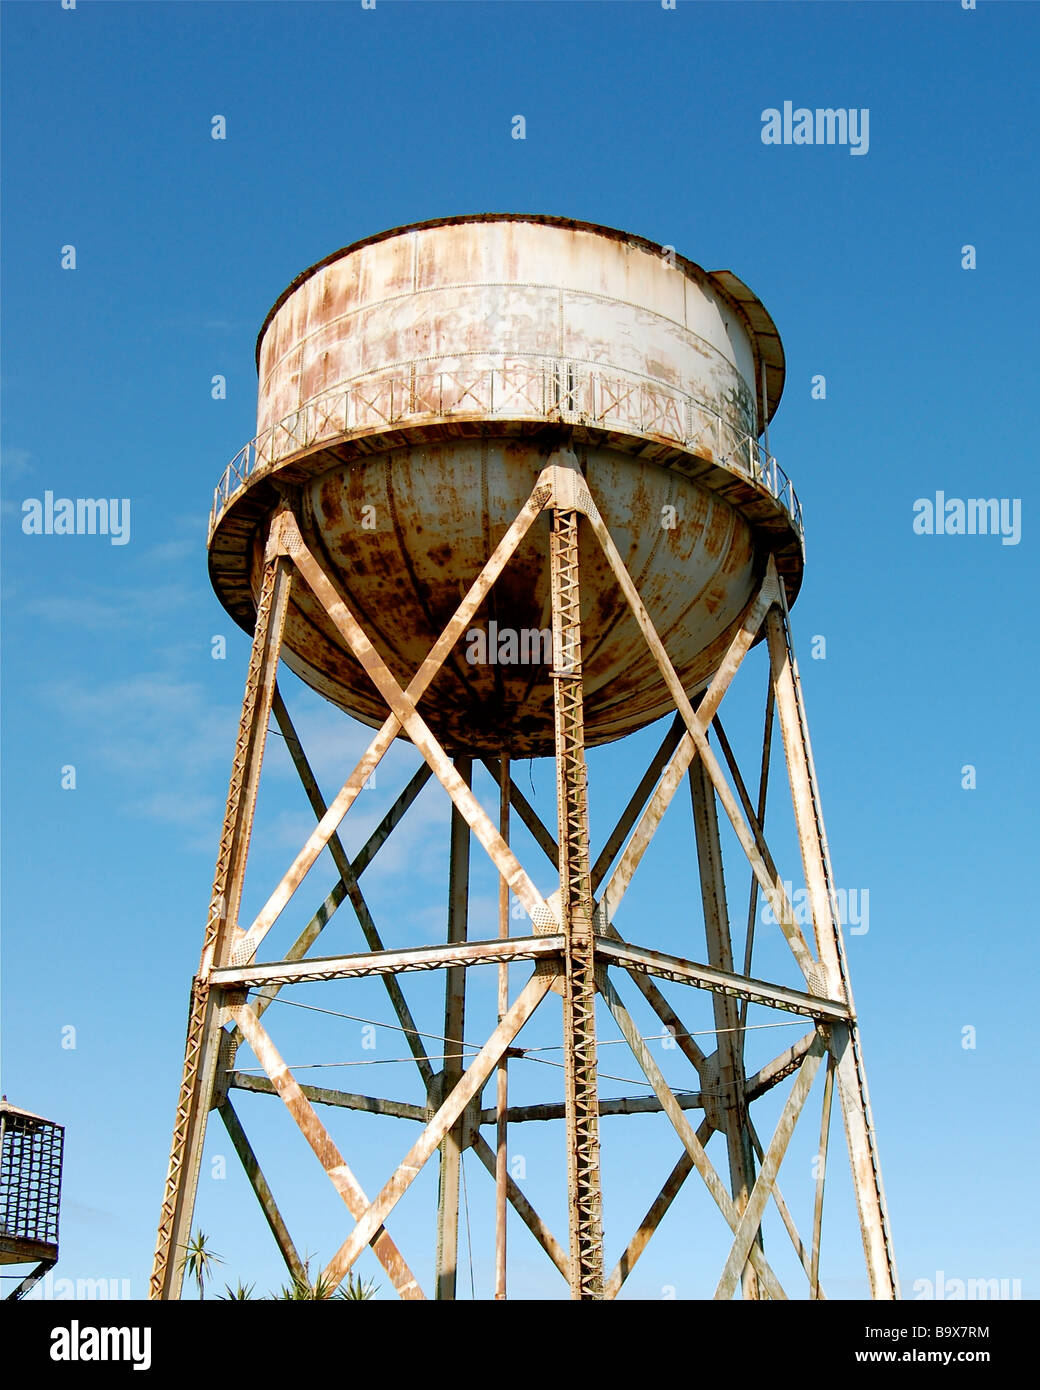
M808 537L794 630L837 878L869 892L869 931L848 949L904 1293L944 1270L1018 1279L1037 1297L1036 1188L1022 1179L1037 1166L1037 659L1025 600L1037 577L1039 38L1036 6L997 0L973 11L957 0L679 0L674 13L656 0L3 7L3 1087L67 1125L57 1275L146 1290L247 655L209 588L204 539L213 486L253 432L256 331L300 270L357 238L531 211L731 268L779 325L787 389L770 445ZM786 100L869 108L869 152L763 145L762 111ZM224 142L210 139L214 114L227 117ZM514 114L523 142L510 138ZM75 271L60 264L67 245ZM962 268L965 245L975 270ZM225 400L210 396L217 373ZM811 396L816 374L826 400ZM47 489L129 498L129 542L25 535L22 503ZM937 491L1021 499L1019 543L915 534L915 500ZM214 635L227 637L224 662L211 659ZM809 656L815 635L824 660ZM285 694L331 795L363 733L293 677ZM752 695L734 689L730 723L756 721L759 698L758 680ZM594 755L594 831L659 733ZM277 744L246 908L310 828ZM373 801L345 823L348 848L414 760L395 749ZM75 790L61 788L67 764ZM965 764L975 790L962 788ZM530 777L549 816L549 770ZM445 826L428 788L378 884L373 867L388 940L442 930ZM776 833L797 880L780 815ZM669 860L690 852L677 813L655 848L660 880L638 890L633 913L642 905L647 945L660 919L662 948L697 956L695 923L679 924L681 885L665 881ZM327 866L313 878L300 919L334 881ZM494 902L477 852L474 878ZM734 917L745 894L741 870ZM356 948L356 926L335 931L330 949ZM491 977L474 998L478 1027ZM336 999L387 1016L374 988ZM439 1031L428 981L414 999ZM706 998L698 1008L710 1019ZM293 1062L366 1059L357 1019L273 1009L273 1030L275 1015ZM61 1045L70 1026L75 1048ZM552 1026L546 1016L546 1045ZM414 1098L412 1074L391 1061L399 1040L380 1038L384 1066L306 1079L361 1090L364 1076L377 1094ZM755 1041L754 1056L770 1048ZM612 1062L621 1051L609 1048ZM610 1069L638 1076L631 1059ZM513 1070L517 1098L559 1094L546 1068ZM275 1193L311 1233L302 1244L327 1258L346 1234L331 1188L277 1102L243 1097L242 1116ZM393 1129L405 1122L385 1120L389 1133L367 1116L335 1122L371 1190L413 1138ZM806 1115L784 1184L802 1220L815 1123ZM609 1254L677 1156L655 1118L627 1125L603 1125ZM541 1131L523 1134L527 1187L564 1234L560 1133L526 1129ZM200 1223L227 1277L271 1287L279 1261L234 1161L227 1179L211 1176L222 1152L214 1123ZM831 1152L841 1156L837 1125ZM823 1273L833 1297L850 1297L865 1279L840 1169ZM427 1284L432 1175L391 1225ZM491 1184L476 1165L467 1183L474 1287L487 1297ZM722 1223L692 1180L683 1202L628 1295L710 1293ZM516 1295L562 1295L526 1234L510 1238ZM387 1294L378 1266L361 1268Z

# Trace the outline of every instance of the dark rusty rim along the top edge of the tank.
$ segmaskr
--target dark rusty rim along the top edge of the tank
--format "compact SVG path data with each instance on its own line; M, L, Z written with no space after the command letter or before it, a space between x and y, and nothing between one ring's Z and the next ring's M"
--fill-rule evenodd
M260 325L260 332L256 336L254 360L257 373L260 371L260 345L264 341L264 334L271 325L271 320L282 304L296 293L300 285L304 285L313 275L317 275L320 270L324 270L327 265L332 265L335 261L342 260L343 256L349 256L352 252L361 250L364 246L375 246L378 242L387 242L392 236L403 236L407 232L432 231L438 227L462 227L467 222L534 222L541 227L556 227L563 231L594 232L599 236L605 235L612 240L624 242L626 245L635 246L640 250L651 252L658 256L665 249L662 242L653 242L648 236L640 236L638 232L627 232L620 227L608 227L605 222L587 222L581 218L559 217L552 213L457 213L450 217L431 217L421 222L403 222L400 227L389 227L382 232L373 232L370 236L361 236L359 240L350 242L348 246L341 246L339 250L330 252L328 256L323 256L321 260L314 261L313 265L302 270L299 275L296 275L285 286L267 311L267 316ZM765 424L769 424L780 404L786 377L783 343L772 314L758 295L755 295L755 292L742 279L740 279L740 277L734 275L733 271L705 270L704 265L698 265L697 261L676 252L674 247L669 249L674 256L677 267L681 268L684 275L694 281L704 279L709 282L717 293L723 295L734 306L744 321L744 327L751 335L752 343L755 345L756 352L765 363L767 371L767 400L761 418ZM755 318L761 321L759 327L756 327L754 321ZM758 384L755 385L755 395L759 396Z

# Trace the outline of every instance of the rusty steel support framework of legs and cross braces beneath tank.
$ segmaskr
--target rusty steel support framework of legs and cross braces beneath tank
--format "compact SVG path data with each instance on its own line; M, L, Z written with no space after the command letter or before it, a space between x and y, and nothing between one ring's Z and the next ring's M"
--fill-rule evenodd
M553 698L556 710L556 835L542 824L509 776L509 759L487 758L496 778L498 826L471 791L471 759L449 758L420 708L424 691L467 630L474 614L517 546L544 510L552 513L549 564L552 581ZM655 656L676 706L674 723L635 788L617 826L591 862L587 805L587 773L583 737L581 624L578 528L587 527L599 542L615 580ZM382 727L373 737L338 795L325 803L275 684L275 670L285 626L289 588L303 582L323 605L343 642L363 664L388 708ZM719 719L719 706L747 652L759 635L769 649L770 680L758 796L740 773ZM812 908L815 954L806 941L784 890L763 835L770 741L779 716L802 869ZM270 716L286 741L317 826L286 870L278 887L247 926L238 922L242 881L253 823L257 785ZM377 767L395 737L406 733L424 759L395 805L352 860L338 835L342 817ZM723 763L709 742L709 731ZM407 812L425 781L437 777L452 799L449 929L445 945L387 949L373 922L359 880ZM680 783L687 778L694 810L699 884L706 931L706 960L695 963L623 941L615 917L633 874L645 853ZM742 967L733 959L730 923L723 883L719 806L730 821L751 867L748 940ZM509 845L509 815L516 812L535 842L559 870L559 892L545 899ZM499 873L499 935L470 941L466 931L469 849L474 835ZM339 873L286 956L257 962L267 933L302 884L309 869L328 848ZM527 910L533 934L509 935L509 894ZM780 924L804 977L804 990L758 980L751 974L751 947L756 906L762 894ZM367 951L357 955L311 958L336 908L345 901L357 915ZM531 963L519 995L509 1002L507 969ZM482 1048L463 1058L466 970L496 963L499 969L499 1020ZM413 970L445 972L445 1051L435 1072L423 1036L416 1029L399 976ZM264 1027L261 1017L282 986L332 979L380 976L400 1029L407 1038L428 1105L407 1105L345 1091L303 1086L292 1076ZM677 1048L699 1077L698 1093L673 1093L651 1049L623 1004L616 981L627 977L642 994ZM712 994L717 1049L705 1054L695 1037L660 992L655 980L667 980ZM263 990L250 998L250 990ZM563 997L564 1102L507 1106L506 1063L513 1042L545 995ZM599 1101L596 1095L596 995L616 1020L641 1068L652 1097ZM749 1004L801 1015L811 1030L752 1076L744 1069L744 1026ZM266 1073L249 1076L235 1069L242 1042L254 1052ZM457 1045L457 1052L453 1047ZM469 1065L464 1065L464 1061ZM823 1070L822 1127L818 1182L811 1237L802 1240L777 1183L781 1159L809 1088ZM492 1074L496 1097L481 1108ZM759 1140L751 1102L787 1077L794 1077L780 1120L767 1144ZM460 1159L473 1148L496 1184L496 1297L506 1294L506 1207L519 1215L556 1269L569 1282L573 1298L612 1298L660 1225L669 1207L694 1169L704 1180L731 1232L731 1247L715 1290L716 1298L734 1295L741 1284L745 1298L787 1297L766 1259L762 1220L772 1201L793 1241L808 1279L811 1298L823 1298L819 1277L827 1138L834 1086L844 1119L852 1183L866 1257L872 1297L897 1298L898 1283L888 1230L884 1191L877 1159L866 1076L861 1054L848 967L836 905L816 774L798 670L791 645L783 582L772 560L744 610L740 627L708 689L697 705L683 689L669 656L640 599L635 585L590 496L577 460L558 450L513 524L462 599L455 616L406 689L392 677L367 639L339 592L307 550L292 512L291 496L273 517L259 599L253 648L246 677L242 719L231 773L224 828L217 858L213 899L206 923L199 972L192 984L184 1076L177 1105L170 1169L163 1198L159 1240L152 1275L153 1298L178 1297L181 1258L190 1234L206 1123L216 1109L242 1159L285 1265L303 1275L303 1262L263 1176L231 1091L279 1095L310 1144L318 1163L346 1205L345 1240L324 1273L332 1284L350 1270L366 1245L371 1245L402 1298L425 1297L414 1273L387 1230L387 1220L423 1165L439 1152L435 1295L455 1297L459 1225ZM346 1158L323 1125L316 1105L345 1106L419 1122L421 1133L384 1187L368 1197ZM687 1118L701 1111L697 1127ZM660 1193L610 1272L603 1268L602 1197L599 1183L599 1118L631 1112L663 1112L681 1144L680 1156ZM523 1194L506 1166L507 1126L534 1119L566 1122L569 1238L562 1244ZM495 1126L495 1148L481 1129ZM705 1145L717 1130L724 1136L729 1183L716 1170Z

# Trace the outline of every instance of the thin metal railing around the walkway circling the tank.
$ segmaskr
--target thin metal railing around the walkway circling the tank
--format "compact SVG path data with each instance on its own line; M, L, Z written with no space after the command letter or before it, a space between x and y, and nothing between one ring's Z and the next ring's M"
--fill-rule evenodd
M423 371L413 363L357 378L293 410L243 445L217 484L210 530L250 478L303 449L421 420L559 420L645 435L706 453L763 488L802 535L791 480L759 441L688 392L617 368L558 359Z

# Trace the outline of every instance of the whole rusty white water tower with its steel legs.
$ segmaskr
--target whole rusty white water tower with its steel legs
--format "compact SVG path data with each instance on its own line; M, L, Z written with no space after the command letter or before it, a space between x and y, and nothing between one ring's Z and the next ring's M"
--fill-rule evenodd
M210 523L214 588L253 646L192 987L152 1297L179 1293L178 1255L190 1232L211 1109L228 1126L286 1266L299 1269L231 1099L243 1084L235 1069L243 1045L266 1073L260 1088L285 1104L348 1208L342 1245L325 1269L334 1283L371 1245L402 1297L455 1297L460 1158L473 1148L496 1184L496 1297L507 1293L507 1208L571 1297L613 1297L694 1170L713 1202L706 1219L729 1226L716 1297L737 1289L751 1298L787 1297L761 1234L767 1204L787 1227L802 1290L824 1297L820 1220L837 1084L870 1290L876 1298L897 1297L788 627L802 577L801 510L759 442L767 439L784 378L766 310L730 271L709 274L669 247L610 228L555 217L444 218L371 236L299 275L267 316L257 367L256 438L221 478ZM741 773L719 709L758 642L767 648L769 677L755 785ZM275 684L279 664L375 731L328 803ZM254 920L241 920L271 714L317 824ZM666 714L672 726L616 828L603 845L590 844L585 748ZM811 933L763 833L774 723ZM350 860L338 826L396 738L421 753L421 770ZM556 769L552 826L510 774L510 760L542 756ZM498 784L498 816L474 795L477 764ZM452 803L445 935L432 945L385 942L359 877L430 777ZM690 951L676 955L660 951L659 941L630 941L619 909L684 781L694 842L680 872L702 902L704 935L691 935ZM797 987L754 974L751 940L734 956L720 810L751 872L749 926L765 899L790 947ZM510 848L510 812L552 860L556 891L542 895ZM501 885L498 933L476 938L467 919L471 838ZM292 949L264 959L264 938L325 851L339 873L335 891ZM526 913L519 931L510 895ZM345 899L367 951L317 956L311 948ZM464 1052L467 969L487 963L498 965L498 1024L478 1051ZM406 1002L416 970L444 972L444 1041L437 1045L427 1047ZM302 1084L261 1022L282 988L366 976L387 987L427 1101L417 1111L420 1137L374 1197L361 1190L350 1155L339 1151L316 1106L385 1109L391 1102ZM684 1026L662 984L687 999L690 990L710 992L712 1051L704 1034ZM619 986L642 995L698 1090L677 1091L665 1080ZM552 994L562 998L564 1063L555 1113L563 1122L559 1172L569 1232L559 1238L507 1168L514 1126L553 1112L510 1108L507 1097L507 1063L523 1055L516 1040ZM801 1016L806 1029L752 1074L744 1065L749 1006ZM606 1015L649 1084L638 1104L598 1094L596 1020ZM820 1173L812 1230L802 1236L777 1170L818 1073ZM759 1138L752 1102L788 1079L774 1133ZM601 1119L630 1109L665 1113L681 1152L606 1268ZM623 1131L619 1123L612 1143L623 1143ZM432 1284L423 1289L391 1227L396 1202L434 1155L437 1255Z

